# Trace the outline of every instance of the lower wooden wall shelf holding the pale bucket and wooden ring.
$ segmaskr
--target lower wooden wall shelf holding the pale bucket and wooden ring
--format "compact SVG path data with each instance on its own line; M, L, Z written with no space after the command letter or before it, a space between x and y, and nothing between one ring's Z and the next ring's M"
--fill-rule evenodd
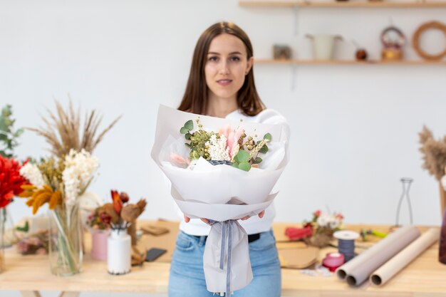
M254 59L255 64L287 65L446 65L446 61L355 61L355 60L274 60Z

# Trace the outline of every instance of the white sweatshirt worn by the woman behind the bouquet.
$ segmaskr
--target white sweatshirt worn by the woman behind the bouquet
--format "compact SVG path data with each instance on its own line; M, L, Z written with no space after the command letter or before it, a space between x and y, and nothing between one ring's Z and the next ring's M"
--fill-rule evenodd
M284 116L280 113L276 112L276 110L266 109L261 111L258 115L254 115L252 117L242 114L239 110L235 110L229 115L226 116L229 120L240 120L242 119L245 122L254 122L254 123L262 123L262 124L271 124L271 125L284 125L286 132L286 139L289 139L290 130L289 125L286 122ZM201 219L190 219L189 223L186 223L183 217L182 212L179 210L179 214L181 215L180 220L180 230L184 231L190 235L208 235L211 229L211 226L202 222ZM242 221L239 220L239 223L243 226L243 228L247 231L247 234L256 234L264 231L269 231L271 229L271 225L273 223L273 219L276 217L276 210L274 209L274 202L269 205L267 209L265 209L265 214L263 218L259 218L259 216L250 217L249 219Z

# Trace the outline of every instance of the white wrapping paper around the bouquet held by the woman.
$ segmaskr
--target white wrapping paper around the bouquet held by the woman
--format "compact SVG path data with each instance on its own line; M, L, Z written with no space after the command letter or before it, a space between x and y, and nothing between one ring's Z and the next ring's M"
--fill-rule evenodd
M269 151L261 156L263 161L260 163L260 168L251 168L249 172L244 172L228 165L213 166L201 158L193 170L190 170L172 162L170 160L172 152L185 159L189 156L189 149L184 145L186 140L184 135L180 134L180 128L188 120L193 120L195 123L197 118L203 125L202 129L207 131L218 132L230 125L233 130L242 126L247 135L258 135L258 140L266 133L271 134L271 142L268 142ZM276 197L277 193L271 191L289 160L285 128L284 125L266 125L195 115L160 105L151 155L172 182L172 197L185 215L217 222L242 219L259 214ZM232 225L233 237L226 241L234 242L231 251L228 251L234 259L230 269L231 274L237 276L237 281L233 279L234 286L231 287L231 291L247 286L252 278L246 231L238 223L234 223L237 222L229 222ZM222 271L219 265L217 266L219 259L218 261L215 259L215 255L221 250L222 239L219 238L221 229L219 223L212 225L203 259L208 288L218 289L215 292L226 291L221 288L227 288L226 279L216 277L220 275L219 273L227 273ZM218 251L216 246L220 246ZM238 261L244 261L244 265L239 265ZM219 273L216 274L216 271ZM209 283L211 279L212 283Z

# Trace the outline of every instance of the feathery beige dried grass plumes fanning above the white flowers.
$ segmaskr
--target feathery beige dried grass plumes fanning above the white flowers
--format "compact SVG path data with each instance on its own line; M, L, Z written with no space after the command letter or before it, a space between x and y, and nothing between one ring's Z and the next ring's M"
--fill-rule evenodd
M70 98L70 96L68 96ZM102 132L98 132L98 127L102 122L102 116L95 110L85 114L85 120L81 135L81 112L76 113L70 98L68 109L64 109L58 100L56 102L56 113L47 109L48 118L42 116L46 127L26 127L27 130L36 132L45 138L51 145L51 152L57 157L68 155L71 149L81 152L93 152L95 147L103 140L107 133L120 120L121 116L113 120Z

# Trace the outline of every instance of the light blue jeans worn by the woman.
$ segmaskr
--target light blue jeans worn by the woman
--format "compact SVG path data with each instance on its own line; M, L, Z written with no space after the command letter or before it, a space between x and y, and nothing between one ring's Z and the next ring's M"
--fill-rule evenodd
M205 237L199 238L180 231L175 244L169 276L169 297L213 296L207 291L203 271ZM281 293L281 270L273 232L266 231L249 244L254 278L251 283L232 297L279 297Z

